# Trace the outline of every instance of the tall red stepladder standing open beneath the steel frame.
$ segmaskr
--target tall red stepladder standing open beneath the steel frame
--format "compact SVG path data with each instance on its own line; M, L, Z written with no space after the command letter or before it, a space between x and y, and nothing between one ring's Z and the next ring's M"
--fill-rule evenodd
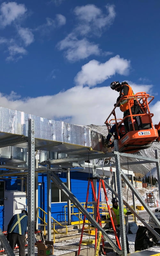
M98 197L96 198L96 193L95 193L95 189L94 189L94 185L93 185L93 180L97 180L97 179L99 179L99 189L98 189ZM92 193L93 193L94 203L96 203L96 211L97 211L96 221L102 227L101 221L100 221L100 212L99 212L100 188L101 188L101 185L102 185L102 188L103 188L103 191L104 191L104 195L105 195L105 199L106 199L106 203L107 203L107 207L108 207L109 217L110 217L112 228L113 228L113 231L114 231L114 234L115 234L115 237L116 237L116 242L117 242L117 245L118 245L119 249L121 250L121 245L120 245L119 239L117 237L116 228L115 228L115 225L114 225L114 222L113 222L112 213L111 213L110 206L109 206L109 203L108 203L108 197L107 197L106 188L105 188L105 184L104 184L103 178L93 177L93 178L89 178L88 179L88 187L87 187L85 209L87 209L87 204L88 204L90 182L91 182L91 186L92 186ZM80 242L79 242L79 248L78 248L77 256L79 256L80 250L81 250L82 238L83 238L83 233L84 233L85 219L86 219L86 215L84 215L82 232L81 232L81 238L80 238ZM95 228L95 250L96 250L96 246L97 246L97 228ZM103 248L103 254L106 255L106 252L104 250L104 239L103 239L103 236L102 236L102 248Z

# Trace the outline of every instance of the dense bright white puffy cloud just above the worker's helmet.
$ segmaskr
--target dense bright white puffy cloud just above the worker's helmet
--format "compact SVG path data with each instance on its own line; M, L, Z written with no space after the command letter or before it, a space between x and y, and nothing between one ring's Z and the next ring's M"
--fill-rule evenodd
M91 60L84 66L75 77L77 85L88 85L89 87L101 84L109 77L115 75L127 75L130 68L130 61L116 55L105 63Z

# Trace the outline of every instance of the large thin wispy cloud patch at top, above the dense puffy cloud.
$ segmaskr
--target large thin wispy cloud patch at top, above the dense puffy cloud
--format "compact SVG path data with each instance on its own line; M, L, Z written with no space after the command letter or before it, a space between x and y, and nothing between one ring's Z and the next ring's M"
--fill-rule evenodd
M64 50L64 56L69 61L78 61L88 58L90 55L100 55L101 50L98 44L89 42L87 36L101 36L102 29L110 26L116 16L114 5L106 5L107 14L103 14L101 9L94 4L77 6L74 13L78 19L78 25L71 33L61 40L57 46L59 50ZM104 55L111 54L105 52Z

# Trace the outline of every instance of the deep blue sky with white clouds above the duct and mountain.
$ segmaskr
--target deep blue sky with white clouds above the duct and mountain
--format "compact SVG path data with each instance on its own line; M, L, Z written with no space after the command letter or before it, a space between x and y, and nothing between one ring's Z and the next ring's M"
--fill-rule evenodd
M155 97L158 123L159 12L159 0L0 0L0 105L103 125L119 80Z

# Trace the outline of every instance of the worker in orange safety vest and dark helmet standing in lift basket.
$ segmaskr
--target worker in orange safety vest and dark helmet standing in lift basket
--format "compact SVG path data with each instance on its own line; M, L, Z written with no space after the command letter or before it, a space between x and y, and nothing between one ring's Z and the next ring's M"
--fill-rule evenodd
M117 98L116 104L123 96L134 95L132 87L127 82L122 82L120 84L119 81L118 82L114 81L110 84L110 87L112 90L119 92L119 97ZM116 106L116 104L114 104L114 106ZM123 99L122 101L120 101L120 103L118 105L118 107L120 107L121 111L124 112L123 118L125 116L130 115L129 105L131 107L132 115L141 113L140 107L136 104L134 99L130 99L129 101L126 99ZM128 117L124 120L126 132L129 132L129 124L128 124L129 119L130 119L130 117Z

